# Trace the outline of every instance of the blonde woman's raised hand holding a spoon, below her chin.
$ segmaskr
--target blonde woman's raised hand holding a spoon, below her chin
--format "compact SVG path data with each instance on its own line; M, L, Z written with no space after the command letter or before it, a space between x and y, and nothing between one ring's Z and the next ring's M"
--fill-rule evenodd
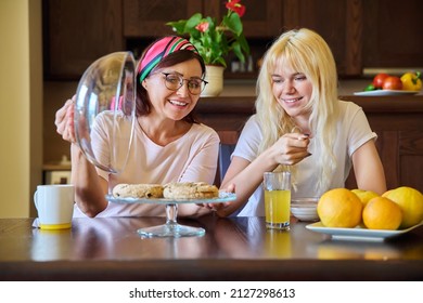
M293 166L311 156L308 152L309 144L310 139L307 134L287 133L281 136L270 148L277 163Z

